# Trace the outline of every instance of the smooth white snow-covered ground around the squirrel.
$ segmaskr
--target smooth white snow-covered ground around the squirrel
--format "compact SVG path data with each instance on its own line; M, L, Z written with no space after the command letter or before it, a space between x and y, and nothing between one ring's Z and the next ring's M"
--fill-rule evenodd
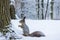
M30 33L41 31L45 37L24 37L23 31L19 25L19 20L11 20L13 30L22 39L20 40L60 40L60 21L56 20L30 20L26 19L26 24L29 27Z

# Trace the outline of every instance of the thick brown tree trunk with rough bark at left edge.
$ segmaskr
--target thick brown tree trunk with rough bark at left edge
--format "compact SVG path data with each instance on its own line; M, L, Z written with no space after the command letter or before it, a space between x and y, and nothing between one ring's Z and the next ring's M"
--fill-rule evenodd
M10 23L10 1L0 0L0 32Z

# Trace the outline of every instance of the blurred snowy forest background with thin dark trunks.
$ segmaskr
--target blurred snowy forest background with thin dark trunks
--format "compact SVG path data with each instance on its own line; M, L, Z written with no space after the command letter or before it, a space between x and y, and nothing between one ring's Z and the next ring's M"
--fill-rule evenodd
M15 0L13 4L19 18L26 16L28 19L60 19L58 0Z

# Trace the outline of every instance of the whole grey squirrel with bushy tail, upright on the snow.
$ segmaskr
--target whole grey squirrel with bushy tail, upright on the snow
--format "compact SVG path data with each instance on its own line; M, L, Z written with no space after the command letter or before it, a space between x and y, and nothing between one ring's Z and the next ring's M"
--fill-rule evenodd
M23 29L23 35L24 36L31 36L31 37L41 37L41 36L45 36L42 32L40 32L40 31L35 31L35 32L33 32L33 33L31 33L31 34L29 34L29 28L28 28L28 26L26 25L26 23L25 23L25 18L26 17L24 17L22 20L20 20L19 22L21 23L21 25L19 25L19 27L21 27L22 29Z

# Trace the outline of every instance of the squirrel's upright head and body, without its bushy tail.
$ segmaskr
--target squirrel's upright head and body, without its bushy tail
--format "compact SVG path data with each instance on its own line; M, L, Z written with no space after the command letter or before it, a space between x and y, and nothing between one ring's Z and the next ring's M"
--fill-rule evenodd
M25 24L25 18L26 17L23 17L23 19L19 21L19 23L21 23L21 25L19 25L19 27L21 27L23 29L23 33L24 33L23 35L28 36L29 35L29 28Z

